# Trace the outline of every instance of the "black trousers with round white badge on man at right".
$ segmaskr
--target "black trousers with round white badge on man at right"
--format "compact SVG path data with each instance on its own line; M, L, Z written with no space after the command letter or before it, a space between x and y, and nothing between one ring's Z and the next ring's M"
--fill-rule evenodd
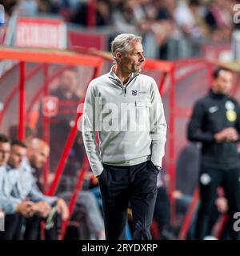
M210 215L214 210L214 201L218 186L225 190L230 214L230 237L237 240L238 232L234 231L233 218L235 212L240 212L240 169L219 170L209 166L202 166L199 177L200 204L196 223L196 238L202 239L209 234Z

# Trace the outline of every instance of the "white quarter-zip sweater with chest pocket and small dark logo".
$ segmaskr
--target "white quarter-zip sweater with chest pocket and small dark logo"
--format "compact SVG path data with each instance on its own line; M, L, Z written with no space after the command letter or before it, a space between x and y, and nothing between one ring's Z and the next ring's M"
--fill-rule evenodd
M94 79L86 91L82 121L83 142L95 176L102 173L102 163L133 166L151 160L154 166L162 166L166 120L153 78L135 73L123 86L110 70Z

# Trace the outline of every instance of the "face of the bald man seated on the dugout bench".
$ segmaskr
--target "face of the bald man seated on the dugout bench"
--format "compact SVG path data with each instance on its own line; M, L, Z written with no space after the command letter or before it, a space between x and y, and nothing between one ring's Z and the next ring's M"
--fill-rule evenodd
M33 150L29 157L30 165L35 169L41 169L46 164L49 153L48 146Z

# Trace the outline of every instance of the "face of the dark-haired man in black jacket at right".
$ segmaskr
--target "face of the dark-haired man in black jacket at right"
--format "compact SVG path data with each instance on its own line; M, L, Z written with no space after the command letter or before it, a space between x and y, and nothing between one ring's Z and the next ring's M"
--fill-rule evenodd
M213 89L219 94L230 94L233 82L233 74L230 71L221 70L218 78L214 79Z

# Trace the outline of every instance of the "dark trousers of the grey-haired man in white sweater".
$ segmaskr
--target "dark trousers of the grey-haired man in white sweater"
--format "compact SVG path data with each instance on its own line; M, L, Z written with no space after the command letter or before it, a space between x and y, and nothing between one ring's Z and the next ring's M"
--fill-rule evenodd
M99 186L106 239L125 239L127 207L130 202L134 218L134 240L150 240L158 170L150 161L134 166L103 166Z

